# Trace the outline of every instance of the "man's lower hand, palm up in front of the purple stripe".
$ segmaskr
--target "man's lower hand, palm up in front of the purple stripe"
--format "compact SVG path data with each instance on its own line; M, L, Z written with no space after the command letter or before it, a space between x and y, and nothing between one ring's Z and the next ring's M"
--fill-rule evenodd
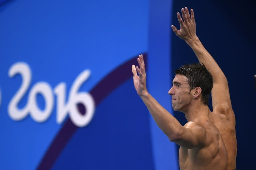
M135 67L135 65L132 65L133 83L138 95L141 96L142 94L147 93L146 72L143 56L139 55L137 61L140 68L138 66ZM139 75L137 75L137 72Z

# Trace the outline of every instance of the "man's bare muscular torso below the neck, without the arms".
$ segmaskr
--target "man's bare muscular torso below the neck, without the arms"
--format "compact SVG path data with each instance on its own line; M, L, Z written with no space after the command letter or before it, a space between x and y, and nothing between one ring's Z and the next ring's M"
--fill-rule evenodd
M208 120L198 123L206 129L206 144L191 149L180 147L180 169L235 169L237 144L234 124L225 115L215 113L210 113Z

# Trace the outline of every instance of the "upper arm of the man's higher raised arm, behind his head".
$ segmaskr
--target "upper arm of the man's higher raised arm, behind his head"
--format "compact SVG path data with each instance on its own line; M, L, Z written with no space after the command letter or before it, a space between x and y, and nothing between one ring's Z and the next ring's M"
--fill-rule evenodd
M218 77L219 78L219 77ZM226 77L214 81L212 87L212 108L214 113L225 115L235 125L235 114L232 110L228 82Z

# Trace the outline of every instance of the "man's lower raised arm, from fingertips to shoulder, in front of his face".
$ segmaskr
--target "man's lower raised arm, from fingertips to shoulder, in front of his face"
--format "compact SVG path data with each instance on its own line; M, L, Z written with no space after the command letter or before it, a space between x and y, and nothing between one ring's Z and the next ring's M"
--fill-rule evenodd
M170 141L184 148L193 148L204 142L206 131L197 123L183 127L179 121L165 110L147 91L146 72L143 56L139 55L140 68L132 65L134 87L141 97L158 127L166 134ZM137 75L137 72L139 75Z

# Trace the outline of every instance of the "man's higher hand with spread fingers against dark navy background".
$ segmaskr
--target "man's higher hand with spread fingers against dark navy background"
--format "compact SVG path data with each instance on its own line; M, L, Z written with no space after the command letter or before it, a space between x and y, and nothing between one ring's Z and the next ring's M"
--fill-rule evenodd
M191 17L189 15L188 8L185 7L181 9L182 18L180 13L177 13L177 18L180 23L180 30L178 30L174 25L172 25L173 32L181 39L187 41L192 40L196 37L196 22L193 9L190 10Z

